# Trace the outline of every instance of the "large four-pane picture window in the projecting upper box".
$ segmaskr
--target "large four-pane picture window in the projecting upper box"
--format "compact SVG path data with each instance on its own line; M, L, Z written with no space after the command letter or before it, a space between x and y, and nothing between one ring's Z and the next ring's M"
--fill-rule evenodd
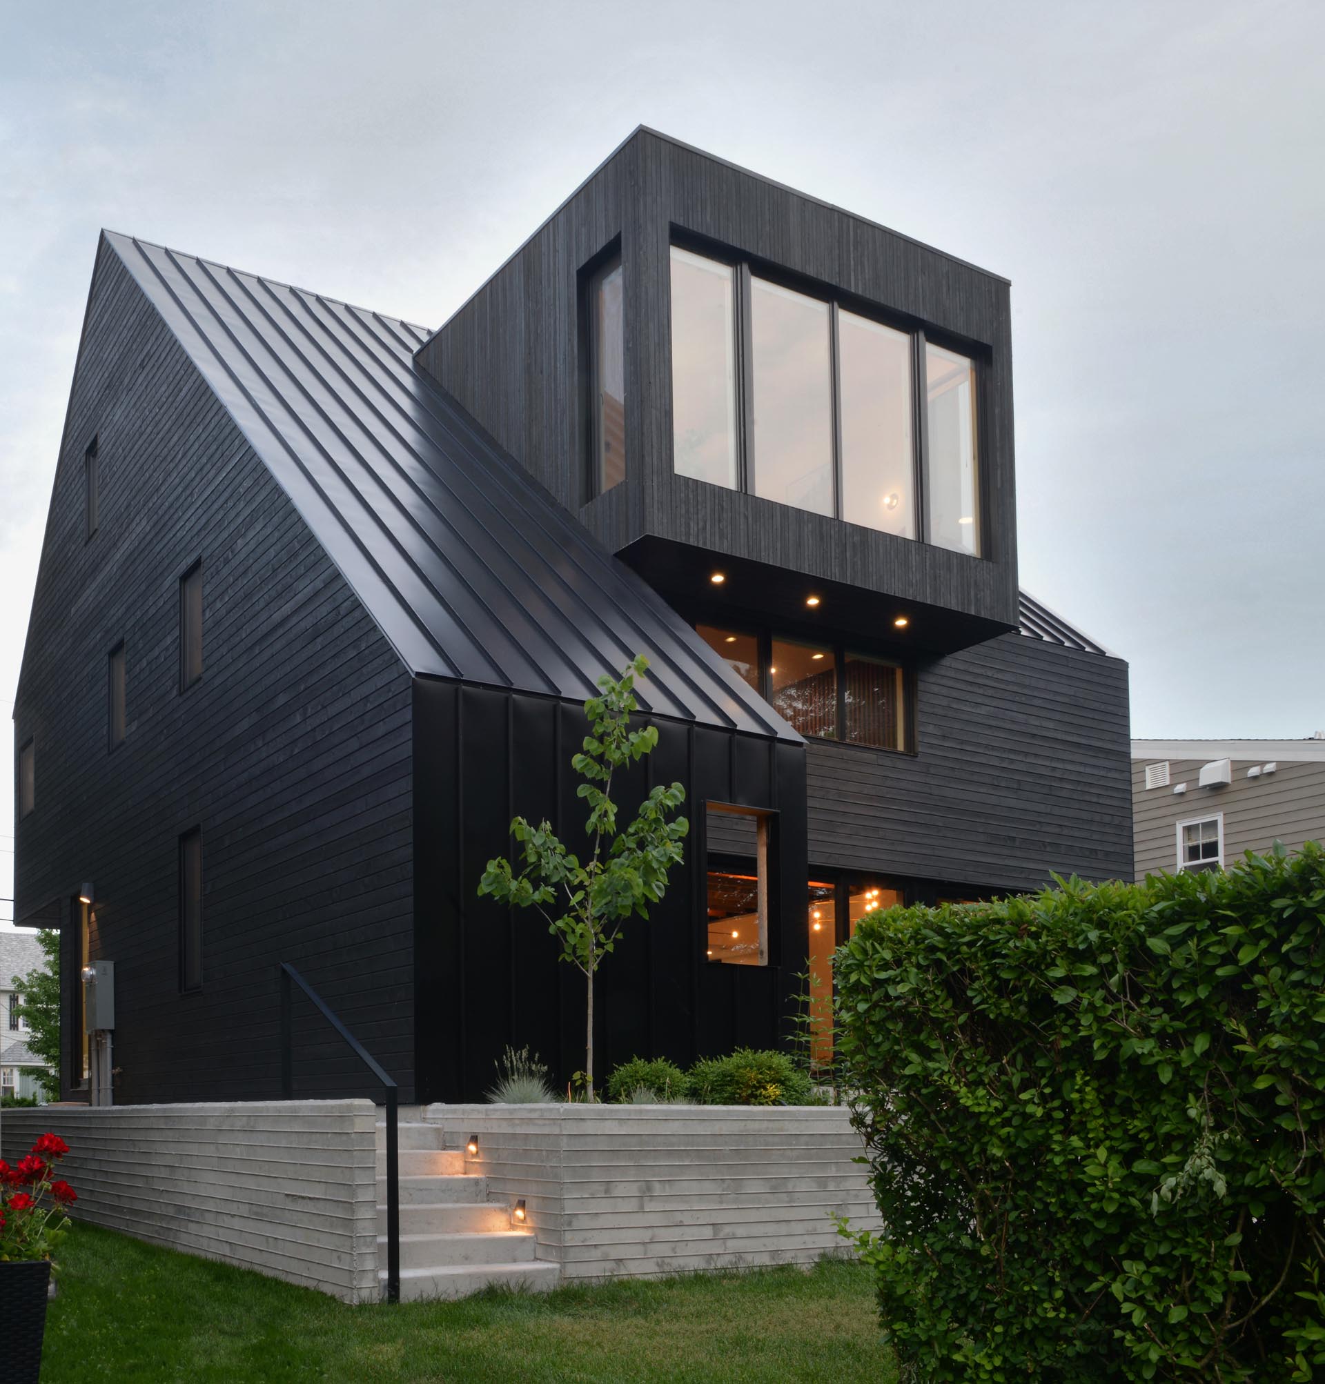
M923 331L671 248L678 476L979 556L976 386Z

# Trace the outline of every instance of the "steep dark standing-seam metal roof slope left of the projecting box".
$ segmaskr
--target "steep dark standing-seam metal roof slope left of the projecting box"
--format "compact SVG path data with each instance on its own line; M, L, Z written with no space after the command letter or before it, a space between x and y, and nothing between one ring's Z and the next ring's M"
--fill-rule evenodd
M406 666L800 736L415 371L421 327L105 233Z

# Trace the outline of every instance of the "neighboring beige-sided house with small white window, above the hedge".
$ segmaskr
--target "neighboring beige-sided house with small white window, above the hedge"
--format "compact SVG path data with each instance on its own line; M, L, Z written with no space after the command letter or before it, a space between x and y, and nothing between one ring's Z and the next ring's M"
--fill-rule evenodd
M1133 740L1137 879L1325 841L1325 731L1303 740Z

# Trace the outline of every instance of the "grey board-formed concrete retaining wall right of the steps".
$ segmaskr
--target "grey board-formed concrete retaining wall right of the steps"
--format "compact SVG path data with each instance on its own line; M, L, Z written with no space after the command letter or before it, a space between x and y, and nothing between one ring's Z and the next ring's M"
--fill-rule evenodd
M565 1279L804 1264L846 1253L833 1215L878 1229L843 1107L426 1106L479 1136L497 1200L525 1197Z

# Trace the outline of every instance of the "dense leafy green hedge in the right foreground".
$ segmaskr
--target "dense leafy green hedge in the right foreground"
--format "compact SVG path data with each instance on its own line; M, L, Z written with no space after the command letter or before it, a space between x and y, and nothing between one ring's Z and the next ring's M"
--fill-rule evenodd
M861 922L838 1053L904 1377L1325 1377L1322 925L1315 846Z

